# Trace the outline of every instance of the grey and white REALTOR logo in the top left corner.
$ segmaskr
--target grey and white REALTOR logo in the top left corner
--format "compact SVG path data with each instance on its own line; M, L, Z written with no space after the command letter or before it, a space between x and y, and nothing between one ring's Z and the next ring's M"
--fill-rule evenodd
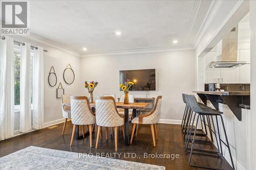
M1 1L1 35L29 35L28 1Z

